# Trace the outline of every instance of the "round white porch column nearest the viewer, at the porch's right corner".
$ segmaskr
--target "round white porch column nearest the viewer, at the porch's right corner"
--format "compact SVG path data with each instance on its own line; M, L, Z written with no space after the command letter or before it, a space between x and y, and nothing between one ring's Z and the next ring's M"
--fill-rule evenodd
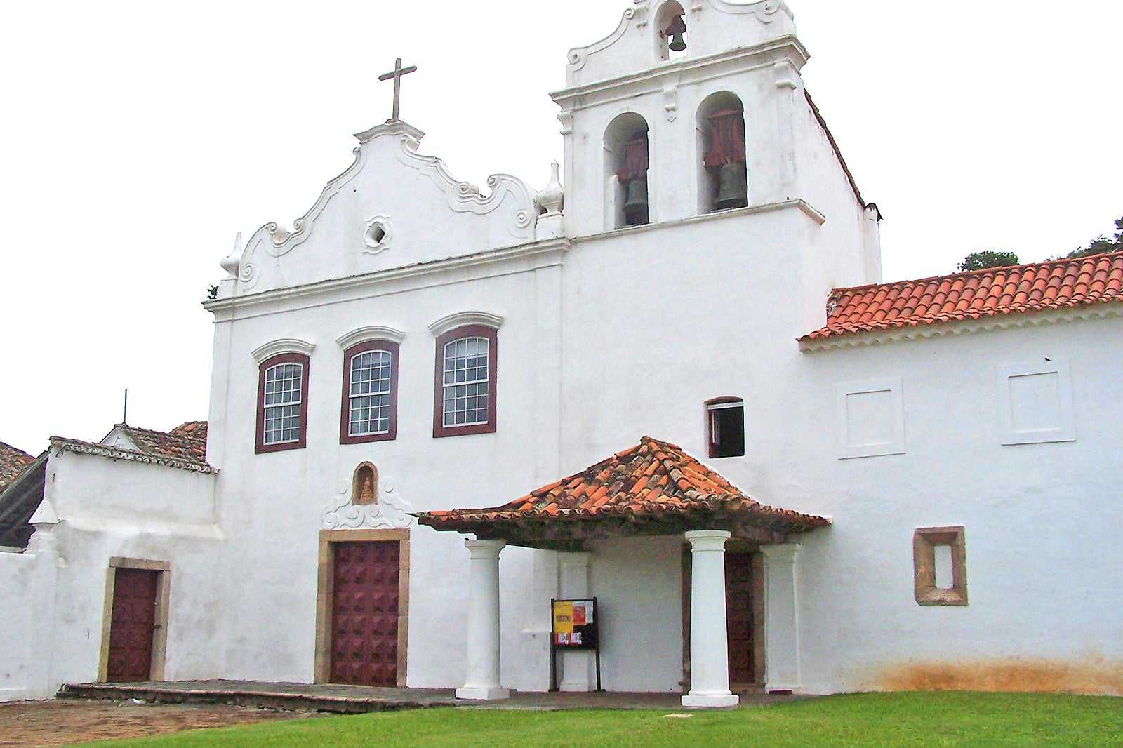
M686 533L691 541L691 692L683 706L736 706L729 690L723 530Z

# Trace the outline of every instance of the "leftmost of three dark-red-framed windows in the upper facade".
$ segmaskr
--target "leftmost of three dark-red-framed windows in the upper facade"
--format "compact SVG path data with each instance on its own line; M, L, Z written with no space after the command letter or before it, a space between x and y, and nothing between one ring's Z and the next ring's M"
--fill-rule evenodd
M308 363L299 353L262 362L258 374L256 451L303 449L308 444Z

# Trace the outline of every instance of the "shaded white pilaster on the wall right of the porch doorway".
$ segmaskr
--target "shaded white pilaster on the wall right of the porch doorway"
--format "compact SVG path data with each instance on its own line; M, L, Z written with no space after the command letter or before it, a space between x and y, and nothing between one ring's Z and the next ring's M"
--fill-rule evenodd
M800 677L800 598L796 586L800 546L764 546L765 691L796 692Z

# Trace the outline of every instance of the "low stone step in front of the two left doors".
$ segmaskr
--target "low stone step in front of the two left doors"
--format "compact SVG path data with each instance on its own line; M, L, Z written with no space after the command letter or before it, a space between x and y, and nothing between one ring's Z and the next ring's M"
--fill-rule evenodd
M362 714L427 706L456 706L450 692L421 688L259 684L232 681L181 683L66 683L60 699L101 699L172 704L232 704L257 709Z

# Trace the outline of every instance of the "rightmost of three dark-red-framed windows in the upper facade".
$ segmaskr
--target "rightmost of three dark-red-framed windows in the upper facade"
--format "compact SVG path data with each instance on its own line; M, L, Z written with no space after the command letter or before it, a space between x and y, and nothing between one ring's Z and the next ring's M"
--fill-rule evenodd
M437 338L435 437L495 431L495 328L465 325Z

